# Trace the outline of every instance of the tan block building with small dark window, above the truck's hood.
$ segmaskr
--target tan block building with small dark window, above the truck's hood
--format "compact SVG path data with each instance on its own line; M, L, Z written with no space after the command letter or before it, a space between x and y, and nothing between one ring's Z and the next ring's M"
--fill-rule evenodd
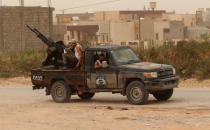
M152 46L162 45L168 40L184 39L183 21L144 19L140 24L141 40L149 41Z

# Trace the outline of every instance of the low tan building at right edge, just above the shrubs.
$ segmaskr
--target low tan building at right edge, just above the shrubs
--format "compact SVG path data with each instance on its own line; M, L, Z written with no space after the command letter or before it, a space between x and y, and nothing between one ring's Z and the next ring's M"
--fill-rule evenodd
M190 40L201 40L201 34L210 34L207 27L188 27L186 38Z

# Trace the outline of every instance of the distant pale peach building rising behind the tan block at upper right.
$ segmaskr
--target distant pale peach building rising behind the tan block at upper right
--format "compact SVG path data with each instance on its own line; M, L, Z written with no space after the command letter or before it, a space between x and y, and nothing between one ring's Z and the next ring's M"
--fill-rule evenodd
M162 19L169 21L183 21L184 26L186 27L196 26L195 14L175 14L175 12L165 13L163 14Z

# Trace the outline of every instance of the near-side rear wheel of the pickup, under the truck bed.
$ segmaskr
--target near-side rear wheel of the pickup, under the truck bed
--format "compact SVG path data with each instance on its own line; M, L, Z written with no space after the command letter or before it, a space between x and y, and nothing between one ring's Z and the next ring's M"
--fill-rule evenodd
M64 81L56 81L52 85L51 96L56 103L69 102L71 89Z

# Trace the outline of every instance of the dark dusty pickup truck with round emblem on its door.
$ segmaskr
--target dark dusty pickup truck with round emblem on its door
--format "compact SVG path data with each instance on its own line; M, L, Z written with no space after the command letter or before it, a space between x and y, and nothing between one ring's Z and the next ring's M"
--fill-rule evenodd
M103 54L102 68L94 63ZM147 103L149 94L166 101L178 87L173 66L143 62L129 46L94 46L85 49L81 69L43 67L31 70L33 89L46 89L57 103L69 102L72 95L91 99L95 93L127 96L131 104Z

